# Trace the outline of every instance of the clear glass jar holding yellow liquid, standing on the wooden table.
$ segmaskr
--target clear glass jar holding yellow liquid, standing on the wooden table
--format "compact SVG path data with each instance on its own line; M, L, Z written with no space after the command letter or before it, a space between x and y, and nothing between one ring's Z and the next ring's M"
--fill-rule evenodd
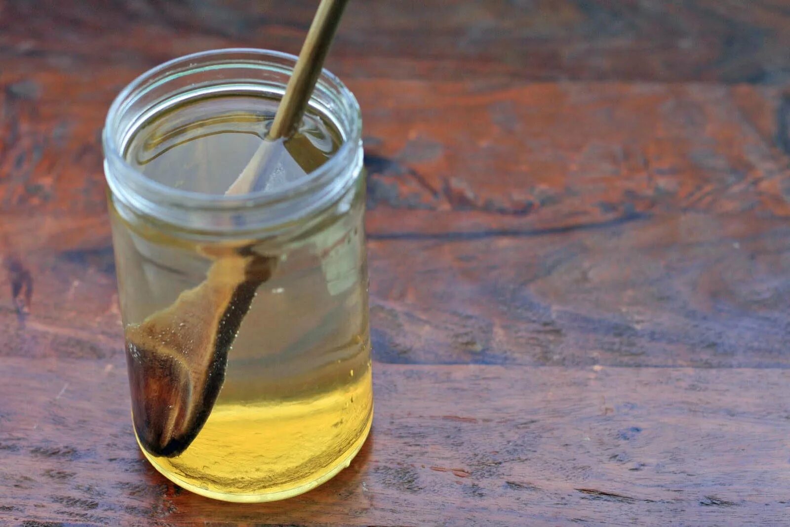
M278 190L200 194L129 164L156 115L206 96L279 99L295 57L206 51L138 77L103 131L135 434L168 479L262 502L348 466L373 412L359 106L331 73L311 111L341 144Z

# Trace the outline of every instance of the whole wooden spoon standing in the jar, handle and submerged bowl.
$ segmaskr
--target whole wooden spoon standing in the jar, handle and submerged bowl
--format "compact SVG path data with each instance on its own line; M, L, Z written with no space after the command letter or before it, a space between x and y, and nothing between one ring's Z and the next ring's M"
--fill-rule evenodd
M346 3L322 0L268 134L225 194L265 190L305 174L285 141L302 120ZM292 174L294 167L301 172ZM228 349L275 263L249 248L220 256L198 287L126 328L134 427L145 450L173 457L197 437L220 393Z

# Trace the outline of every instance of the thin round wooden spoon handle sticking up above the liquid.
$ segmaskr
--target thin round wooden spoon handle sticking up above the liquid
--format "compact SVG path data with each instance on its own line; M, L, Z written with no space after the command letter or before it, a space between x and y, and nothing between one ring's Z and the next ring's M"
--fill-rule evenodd
M269 139L290 136L302 119L347 3L348 0L322 0L318 6L302 51L299 52L294 73L288 80L283 100L277 107L274 122L267 134Z

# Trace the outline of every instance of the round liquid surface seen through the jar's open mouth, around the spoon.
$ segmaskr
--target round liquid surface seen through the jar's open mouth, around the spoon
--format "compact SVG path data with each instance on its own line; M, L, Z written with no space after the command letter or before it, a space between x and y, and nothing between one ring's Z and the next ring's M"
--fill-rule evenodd
M176 106L145 122L126 147L126 160L167 186L225 194L256 155L274 120L277 101L255 96L211 96ZM340 145L340 135L308 111L292 137L266 141L273 165L252 190L276 190L306 177Z

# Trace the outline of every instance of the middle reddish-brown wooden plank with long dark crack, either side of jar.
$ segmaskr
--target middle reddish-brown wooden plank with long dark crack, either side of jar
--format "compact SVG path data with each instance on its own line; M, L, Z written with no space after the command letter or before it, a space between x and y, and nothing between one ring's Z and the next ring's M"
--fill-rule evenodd
M120 339L95 133L96 100L113 93L104 77L72 80L67 93L96 97L75 103L57 96L59 77L32 78L40 89L6 85L0 104L0 356L96 358ZM377 359L790 365L777 90L352 88ZM468 122L482 146L469 147ZM24 323L9 295L17 264L34 284Z

